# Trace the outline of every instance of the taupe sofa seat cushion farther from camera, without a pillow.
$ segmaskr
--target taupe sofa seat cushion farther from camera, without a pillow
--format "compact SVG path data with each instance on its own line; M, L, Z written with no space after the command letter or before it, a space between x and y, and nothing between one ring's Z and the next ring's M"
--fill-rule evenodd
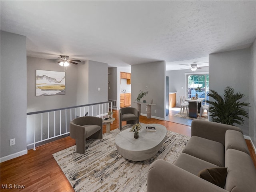
M182 152L224 167L224 146L219 142L192 136Z

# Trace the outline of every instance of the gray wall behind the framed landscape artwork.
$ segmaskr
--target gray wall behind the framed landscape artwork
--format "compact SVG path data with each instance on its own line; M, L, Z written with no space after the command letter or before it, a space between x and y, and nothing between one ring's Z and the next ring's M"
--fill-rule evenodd
M65 95L36 96L36 70L65 72ZM27 112L76 106L77 66L67 68L54 60L27 57Z

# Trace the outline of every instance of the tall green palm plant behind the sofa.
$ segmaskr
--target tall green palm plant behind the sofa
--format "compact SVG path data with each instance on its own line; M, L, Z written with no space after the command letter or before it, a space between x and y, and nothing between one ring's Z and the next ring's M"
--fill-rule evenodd
M212 97L216 101L206 100L211 106L209 107L210 116L213 122L222 124L238 125L244 124L244 118L249 118L248 112L244 110L244 106L249 106L250 103L239 102L244 94L240 92L235 93L234 88L227 86L224 90L224 98L220 96L216 91L210 90L212 93L208 93L208 96Z

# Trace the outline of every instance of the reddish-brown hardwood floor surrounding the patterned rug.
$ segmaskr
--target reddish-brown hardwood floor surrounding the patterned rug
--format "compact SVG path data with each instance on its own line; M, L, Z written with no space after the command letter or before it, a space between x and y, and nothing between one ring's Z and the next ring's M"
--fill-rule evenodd
M119 128L118 111L114 112L116 120L111 124L110 129ZM166 126L167 130L191 136L190 126L176 124L157 119L147 119L140 116L142 123L157 123ZM126 122L122 122L125 125ZM106 132L106 125L103 126L103 133ZM254 165L256 167L256 155L250 144L246 140L250 150ZM28 154L2 162L1 166L1 192L26 191L26 192L74 192L66 176L54 160L52 154L75 145L76 142L70 137L66 137L49 144L45 144L34 150L28 150ZM8 188L4 188L4 185ZM24 189L14 188L14 185L22 185ZM12 187L12 189L10 189Z

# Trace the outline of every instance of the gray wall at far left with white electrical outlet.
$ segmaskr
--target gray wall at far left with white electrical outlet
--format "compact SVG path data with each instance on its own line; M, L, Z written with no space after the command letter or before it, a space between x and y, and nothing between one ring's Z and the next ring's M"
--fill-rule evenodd
M1 158L27 152L26 54L25 36L1 31ZM10 146L13 138L16 144Z

